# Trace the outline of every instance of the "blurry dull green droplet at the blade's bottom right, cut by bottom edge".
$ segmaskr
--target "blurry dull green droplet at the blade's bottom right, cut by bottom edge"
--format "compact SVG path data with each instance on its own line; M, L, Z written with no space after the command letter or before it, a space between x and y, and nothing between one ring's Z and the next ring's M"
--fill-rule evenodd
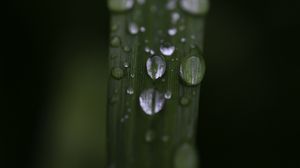
M175 168L197 168L198 157L194 147L190 144L182 144L176 151L174 157Z

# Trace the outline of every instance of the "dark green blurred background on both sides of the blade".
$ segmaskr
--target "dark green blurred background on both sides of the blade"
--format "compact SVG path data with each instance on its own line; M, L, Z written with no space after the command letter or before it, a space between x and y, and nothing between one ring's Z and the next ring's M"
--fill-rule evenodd
M1 167L104 168L106 1L9 3ZM197 137L203 168L300 167L299 5L211 0Z

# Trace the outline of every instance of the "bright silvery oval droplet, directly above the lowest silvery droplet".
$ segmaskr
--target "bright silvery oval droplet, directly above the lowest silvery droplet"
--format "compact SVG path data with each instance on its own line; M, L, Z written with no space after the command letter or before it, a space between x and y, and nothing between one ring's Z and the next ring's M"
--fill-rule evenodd
M166 72L166 62L160 56L153 56L148 58L146 62L147 73L152 79L162 77Z

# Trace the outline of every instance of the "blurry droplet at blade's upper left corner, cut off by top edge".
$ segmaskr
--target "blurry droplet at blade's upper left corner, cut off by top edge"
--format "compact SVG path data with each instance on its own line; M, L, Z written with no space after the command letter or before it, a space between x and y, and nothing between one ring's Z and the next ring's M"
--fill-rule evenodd
M115 12L124 12L134 6L134 0L109 0L108 8Z

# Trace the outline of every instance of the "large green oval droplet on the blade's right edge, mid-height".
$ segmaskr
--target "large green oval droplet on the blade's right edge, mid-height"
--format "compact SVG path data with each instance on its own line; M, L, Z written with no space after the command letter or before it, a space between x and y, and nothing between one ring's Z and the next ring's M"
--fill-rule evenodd
M200 56L201 57L201 56ZM204 59L191 56L183 59L180 65L180 77L188 85L198 85L205 73Z

